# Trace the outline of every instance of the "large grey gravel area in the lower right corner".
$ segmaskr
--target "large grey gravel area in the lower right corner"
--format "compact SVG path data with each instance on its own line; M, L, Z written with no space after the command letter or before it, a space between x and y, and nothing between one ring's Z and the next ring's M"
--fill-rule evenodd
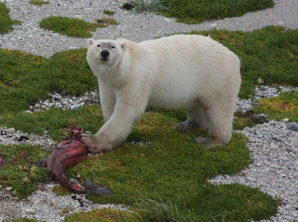
M247 147L254 160L247 169L234 175L209 179L214 184L237 182L256 187L273 198L281 199L278 213L261 222L290 222L298 219L298 132L287 123L270 121L241 131L248 138Z

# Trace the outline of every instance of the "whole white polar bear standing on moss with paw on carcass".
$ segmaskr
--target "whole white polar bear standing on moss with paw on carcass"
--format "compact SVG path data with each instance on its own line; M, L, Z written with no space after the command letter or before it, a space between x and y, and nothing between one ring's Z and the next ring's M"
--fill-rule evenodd
M227 144L239 92L240 61L228 48L200 35L173 35L132 42L87 40L87 61L98 78L104 125L82 140L94 153L124 141L147 105L187 110L174 126L208 129L195 142L206 148Z

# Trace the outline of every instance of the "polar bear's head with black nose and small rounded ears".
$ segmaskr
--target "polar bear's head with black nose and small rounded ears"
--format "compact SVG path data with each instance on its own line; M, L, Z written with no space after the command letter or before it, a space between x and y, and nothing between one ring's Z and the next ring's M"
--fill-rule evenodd
M87 40L87 61L94 65L117 65L127 48L126 43L117 40ZM91 63L90 63L91 62Z

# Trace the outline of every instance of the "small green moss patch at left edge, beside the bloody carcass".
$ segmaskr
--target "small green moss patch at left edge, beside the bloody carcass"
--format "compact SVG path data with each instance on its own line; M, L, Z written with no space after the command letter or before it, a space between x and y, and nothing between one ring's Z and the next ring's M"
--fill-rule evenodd
M25 179L28 166L34 161L45 158L49 153L31 145L0 145L0 156L8 164L0 165L0 184L13 187L11 192L19 198L30 195L37 189L37 182L46 182L46 169L32 167L28 179Z

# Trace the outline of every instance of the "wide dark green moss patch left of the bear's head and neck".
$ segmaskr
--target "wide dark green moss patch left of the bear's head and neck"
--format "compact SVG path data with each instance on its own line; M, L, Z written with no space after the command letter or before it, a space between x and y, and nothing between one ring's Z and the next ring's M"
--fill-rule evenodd
M97 89L86 50L56 53L51 59L0 49L0 114L28 109L49 92L79 95Z

